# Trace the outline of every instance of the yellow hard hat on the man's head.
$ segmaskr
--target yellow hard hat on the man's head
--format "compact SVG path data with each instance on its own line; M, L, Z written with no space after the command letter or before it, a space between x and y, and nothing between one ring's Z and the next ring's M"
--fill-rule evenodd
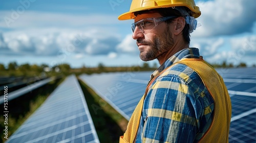
M133 0L130 11L118 16L119 20L134 19L134 12L151 10L156 8L169 8L169 7L187 7L192 11L191 16L197 18L201 15L199 7L196 6L194 0Z

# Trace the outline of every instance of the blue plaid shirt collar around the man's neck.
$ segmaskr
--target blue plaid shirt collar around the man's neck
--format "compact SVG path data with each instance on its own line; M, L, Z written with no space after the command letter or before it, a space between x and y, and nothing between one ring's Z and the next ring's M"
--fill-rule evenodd
M196 47L189 47L179 51L178 53L174 54L172 57L167 59L162 65L159 66L157 70L151 75L151 79L161 73L162 70L169 67L170 65L180 61L183 58L199 58L199 50Z

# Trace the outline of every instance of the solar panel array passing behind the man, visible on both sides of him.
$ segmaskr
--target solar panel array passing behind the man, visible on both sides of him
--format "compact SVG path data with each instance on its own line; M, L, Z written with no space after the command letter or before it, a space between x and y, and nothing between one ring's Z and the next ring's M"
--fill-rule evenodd
M256 68L219 68L232 103L229 142L256 142ZM81 75L127 120L141 99L152 71Z

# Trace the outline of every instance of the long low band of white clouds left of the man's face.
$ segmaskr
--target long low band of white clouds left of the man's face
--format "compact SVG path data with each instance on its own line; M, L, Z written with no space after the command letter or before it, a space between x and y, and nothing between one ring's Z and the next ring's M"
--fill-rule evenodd
M118 34L98 29L86 32L67 29L6 32L0 33L0 55L108 55L117 52L120 41Z

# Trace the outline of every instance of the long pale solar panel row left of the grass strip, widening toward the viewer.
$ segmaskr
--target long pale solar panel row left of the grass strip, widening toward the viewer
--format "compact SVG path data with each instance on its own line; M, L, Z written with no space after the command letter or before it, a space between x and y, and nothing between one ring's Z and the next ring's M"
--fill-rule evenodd
M99 142L76 77L67 77L7 142Z

